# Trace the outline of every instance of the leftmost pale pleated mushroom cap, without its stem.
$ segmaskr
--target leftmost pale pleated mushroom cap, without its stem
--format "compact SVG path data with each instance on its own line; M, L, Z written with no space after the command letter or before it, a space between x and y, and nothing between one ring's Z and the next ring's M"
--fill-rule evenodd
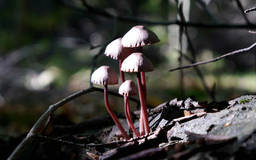
M118 76L109 66L101 66L92 73L91 82L99 85L115 85L118 84Z

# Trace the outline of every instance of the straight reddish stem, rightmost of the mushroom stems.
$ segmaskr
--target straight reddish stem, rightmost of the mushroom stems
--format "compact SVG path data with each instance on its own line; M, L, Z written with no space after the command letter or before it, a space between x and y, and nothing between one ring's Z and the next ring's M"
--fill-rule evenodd
M137 72L137 82L138 82L138 90L139 90L140 104L141 104L141 117L140 118L143 119L145 133L148 134L150 132L149 124L148 124L148 112L147 112L147 106L146 106L146 102L145 102L145 96L144 96L142 86L141 86L140 72ZM140 123L141 123L141 121L140 121ZM140 131L141 130L142 130L142 128L140 128Z

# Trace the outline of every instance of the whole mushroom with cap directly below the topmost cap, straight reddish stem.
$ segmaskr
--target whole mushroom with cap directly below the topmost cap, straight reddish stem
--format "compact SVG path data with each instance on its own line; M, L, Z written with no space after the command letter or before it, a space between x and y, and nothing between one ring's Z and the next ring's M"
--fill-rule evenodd
M144 96L144 92L141 86L141 72L153 71L152 62L141 53L133 53L127 57L122 63L121 70L125 72L136 72L137 73L137 82L138 90L140 95L141 103L141 117L140 117L140 135L145 135L145 133L150 132L148 124L148 114L147 114L147 103ZM145 133L144 133L145 132Z

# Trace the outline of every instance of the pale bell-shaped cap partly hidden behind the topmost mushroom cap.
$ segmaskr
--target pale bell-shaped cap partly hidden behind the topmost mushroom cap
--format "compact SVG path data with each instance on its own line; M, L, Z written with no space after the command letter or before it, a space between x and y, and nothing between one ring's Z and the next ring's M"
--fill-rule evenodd
M135 48L123 47L121 41L122 38L118 38L109 43L109 45L106 47L104 54L113 59L120 59L124 61L126 57L131 55L133 52L136 52Z

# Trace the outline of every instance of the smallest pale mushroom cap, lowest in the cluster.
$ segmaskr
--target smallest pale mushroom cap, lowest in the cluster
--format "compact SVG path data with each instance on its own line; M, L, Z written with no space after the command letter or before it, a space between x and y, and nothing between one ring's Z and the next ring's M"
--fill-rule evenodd
M118 93L123 96L135 96L137 94L137 87L132 80L126 80L120 85Z

